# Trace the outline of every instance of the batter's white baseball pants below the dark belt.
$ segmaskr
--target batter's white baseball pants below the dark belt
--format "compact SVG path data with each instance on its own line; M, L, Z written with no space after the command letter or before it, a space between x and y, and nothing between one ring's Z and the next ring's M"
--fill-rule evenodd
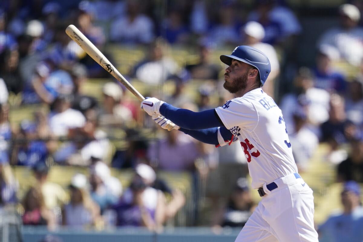
M235 242L318 242L313 190L294 174L274 181Z

